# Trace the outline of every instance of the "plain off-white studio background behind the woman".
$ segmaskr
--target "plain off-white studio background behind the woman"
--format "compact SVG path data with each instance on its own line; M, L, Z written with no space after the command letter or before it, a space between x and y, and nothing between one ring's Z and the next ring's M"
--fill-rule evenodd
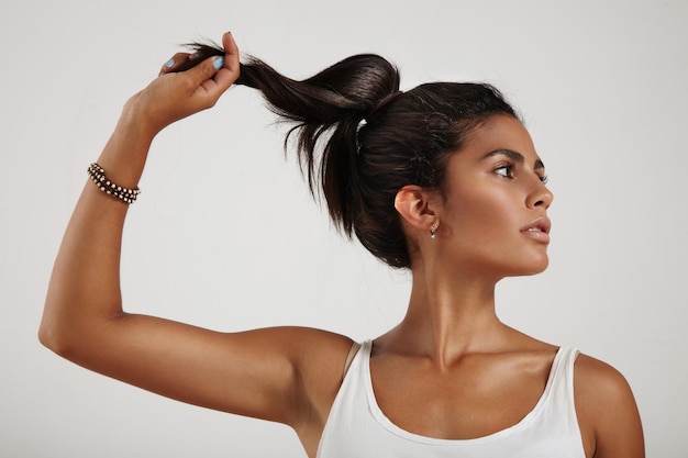
M85 169L123 102L179 44L231 30L295 78L373 52L399 65L402 89L502 89L555 203L551 268L501 283L498 312L620 369L647 456L685 458L687 21L684 0L3 0L0 456L304 456L285 426L124 386L36 339ZM126 309L224 331L382 333L404 311L408 276L332 231L273 121L238 87L159 135L125 232Z

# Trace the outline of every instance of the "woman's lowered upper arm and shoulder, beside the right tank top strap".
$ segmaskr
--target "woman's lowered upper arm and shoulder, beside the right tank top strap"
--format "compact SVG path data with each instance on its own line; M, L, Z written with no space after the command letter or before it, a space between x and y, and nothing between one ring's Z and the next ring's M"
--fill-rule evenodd
M588 456L643 458L637 405L625 378L613 367L580 355L574 378L576 412Z

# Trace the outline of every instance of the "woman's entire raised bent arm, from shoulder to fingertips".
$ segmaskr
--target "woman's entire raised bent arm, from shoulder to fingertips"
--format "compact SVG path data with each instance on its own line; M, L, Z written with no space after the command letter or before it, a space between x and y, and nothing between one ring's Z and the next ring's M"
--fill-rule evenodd
M159 78L126 102L98 158L110 180L134 188L155 135L214 105L236 80L240 59L231 34L223 46L224 57L182 72L173 71L176 63L193 56L176 55ZM224 334L123 311L126 209L86 185L55 261L41 342L86 368L185 402L292 426L313 413L325 415L351 340L302 328ZM318 377L310 378L314 371L308 368L314 367Z

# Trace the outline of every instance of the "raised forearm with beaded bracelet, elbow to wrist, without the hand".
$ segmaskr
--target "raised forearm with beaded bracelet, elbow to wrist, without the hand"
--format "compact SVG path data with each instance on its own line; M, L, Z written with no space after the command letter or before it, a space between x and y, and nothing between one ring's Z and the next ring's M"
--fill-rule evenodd
M125 109L98 158L113 182L136 187L153 135ZM86 183L67 226L48 286L41 342L59 354L91 342L122 316L120 253L127 204Z

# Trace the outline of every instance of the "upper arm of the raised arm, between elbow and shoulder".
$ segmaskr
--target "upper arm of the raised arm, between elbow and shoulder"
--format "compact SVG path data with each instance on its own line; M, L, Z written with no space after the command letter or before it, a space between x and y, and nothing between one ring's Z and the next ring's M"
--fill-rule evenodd
M339 383L349 345L346 337L310 328L219 333L122 314L59 353L167 398L293 425L311 409L313 394ZM317 378L310 376L314 370Z

